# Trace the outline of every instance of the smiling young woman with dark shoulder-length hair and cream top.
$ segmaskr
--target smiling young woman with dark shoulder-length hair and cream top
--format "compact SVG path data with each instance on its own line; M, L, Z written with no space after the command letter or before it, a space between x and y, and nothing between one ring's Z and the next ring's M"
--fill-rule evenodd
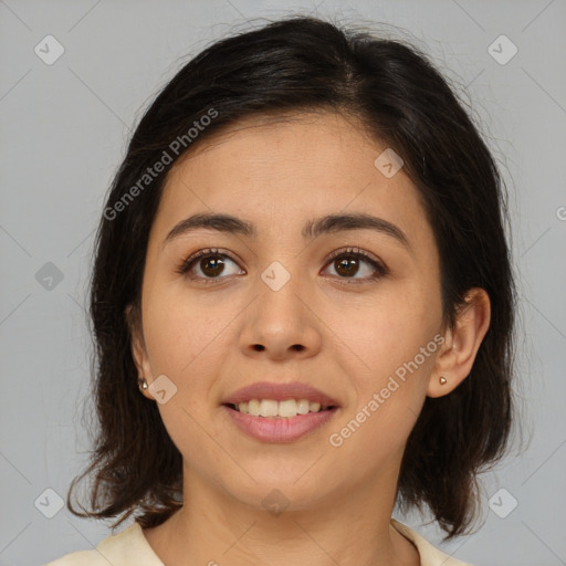
M96 240L91 510L64 565L461 565L512 423L492 156L413 48L290 18L190 61ZM76 485L76 479L70 494Z

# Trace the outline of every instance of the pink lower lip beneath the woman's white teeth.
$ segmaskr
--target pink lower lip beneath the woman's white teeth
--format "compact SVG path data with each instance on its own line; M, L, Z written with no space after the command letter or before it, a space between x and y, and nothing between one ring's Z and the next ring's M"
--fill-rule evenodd
M293 442L301 437L316 430L328 422L337 407L319 412L307 412L296 417L269 418L253 417L223 405L222 408L240 428L250 437L265 442Z

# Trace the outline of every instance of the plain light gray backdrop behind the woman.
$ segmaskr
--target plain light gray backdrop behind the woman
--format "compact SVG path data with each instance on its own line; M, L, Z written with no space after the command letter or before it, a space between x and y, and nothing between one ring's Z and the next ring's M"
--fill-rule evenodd
M140 109L234 24L294 10L388 24L433 55L483 123L511 191L525 449L485 474L482 528L442 548L476 566L566 564L564 0L0 0L0 565L43 564L109 534L66 509L44 516L56 511L44 490L64 497L86 462L93 231ZM51 65L34 52L48 34L65 50ZM489 52L501 34L518 49L505 64ZM57 270L61 281L45 279ZM397 517L438 544L419 516Z

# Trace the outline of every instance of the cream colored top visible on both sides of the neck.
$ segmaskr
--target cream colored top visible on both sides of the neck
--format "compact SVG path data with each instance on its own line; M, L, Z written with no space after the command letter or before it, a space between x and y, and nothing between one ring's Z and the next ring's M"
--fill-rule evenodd
M419 551L421 566L471 566L434 548L426 538L391 518L392 526ZM145 537L142 526L134 523L122 533L101 541L92 551L71 553L45 566L164 566Z

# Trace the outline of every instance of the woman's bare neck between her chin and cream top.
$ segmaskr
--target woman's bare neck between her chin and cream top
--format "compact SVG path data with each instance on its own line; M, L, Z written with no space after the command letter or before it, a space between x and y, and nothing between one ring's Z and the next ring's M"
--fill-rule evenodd
M379 488L327 493L308 507L272 492L251 506L186 471L182 509L145 535L167 566L418 566L417 549L390 524L395 490ZM265 509L272 502L279 510Z

